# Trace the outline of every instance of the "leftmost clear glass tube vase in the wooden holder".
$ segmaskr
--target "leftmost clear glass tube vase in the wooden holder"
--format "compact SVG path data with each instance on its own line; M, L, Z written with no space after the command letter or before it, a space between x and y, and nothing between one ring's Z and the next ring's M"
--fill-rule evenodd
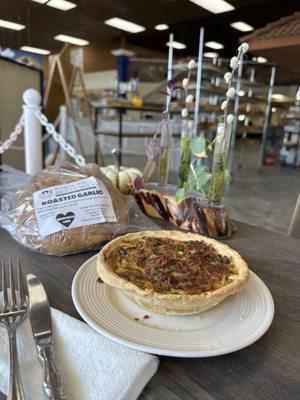
M173 126L170 120L163 120L160 129L160 151L158 164L158 185L167 186L169 179L170 154L173 138Z

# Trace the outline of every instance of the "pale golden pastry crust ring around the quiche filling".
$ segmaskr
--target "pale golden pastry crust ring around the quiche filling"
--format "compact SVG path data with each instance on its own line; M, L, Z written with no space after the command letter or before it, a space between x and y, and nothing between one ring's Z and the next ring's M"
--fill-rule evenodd
M169 238L180 241L204 241L213 246L217 253L231 259L236 268L236 274L233 275L232 282L217 290L206 291L200 294L158 293L149 289L141 289L134 283L116 274L107 262L107 257L115 249L126 246L126 242L128 243L129 240L134 241L142 237ZM232 250L227 245L194 233L164 230L129 233L112 240L102 248L98 255L97 272L105 283L121 289L126 296L136 303L152 311L170 315L197 314L216 306L227 296L242 290L247 283L249 275L246 262L235 250Z

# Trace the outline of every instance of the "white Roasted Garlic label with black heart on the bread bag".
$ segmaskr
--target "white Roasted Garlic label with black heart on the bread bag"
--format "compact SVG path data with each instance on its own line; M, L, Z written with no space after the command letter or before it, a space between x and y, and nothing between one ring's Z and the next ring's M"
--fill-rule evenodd
M42 236L64 229L117 222L105 185L94 177L33 193L35 215Z

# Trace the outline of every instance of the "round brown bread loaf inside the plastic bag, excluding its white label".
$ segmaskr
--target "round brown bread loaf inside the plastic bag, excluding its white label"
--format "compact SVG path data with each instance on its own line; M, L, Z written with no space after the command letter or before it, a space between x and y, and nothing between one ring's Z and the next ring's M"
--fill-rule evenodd
M71 220L67 223L65 220L62 230L42 235L35 210L34 193L43 189L47 192L47 189L53 186L79 182L90 177L96 178L98 183L106 187L116 222L105 221L71 228L68 225ZM57 217L59 216L66 218L63 214L58 214ZM130 224L131 216L126 197L120 194L96 164L78 167L64 163L46 168L20 190L15 207L10 212L10 218L15 226L11 234L23 245L45 254L66 255L97 249L102 242L124 233L126 226Z

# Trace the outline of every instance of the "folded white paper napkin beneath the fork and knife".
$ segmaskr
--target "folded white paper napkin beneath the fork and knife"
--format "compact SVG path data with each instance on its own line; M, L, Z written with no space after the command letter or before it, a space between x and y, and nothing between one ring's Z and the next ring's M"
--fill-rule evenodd
M115 343L52 309L56 359L70 400L134 400L155 374L158 358ZM26 319L18 329L18 354L27 399L46 399L43 373ZM0 391L7 393L8 337L0 326Z

